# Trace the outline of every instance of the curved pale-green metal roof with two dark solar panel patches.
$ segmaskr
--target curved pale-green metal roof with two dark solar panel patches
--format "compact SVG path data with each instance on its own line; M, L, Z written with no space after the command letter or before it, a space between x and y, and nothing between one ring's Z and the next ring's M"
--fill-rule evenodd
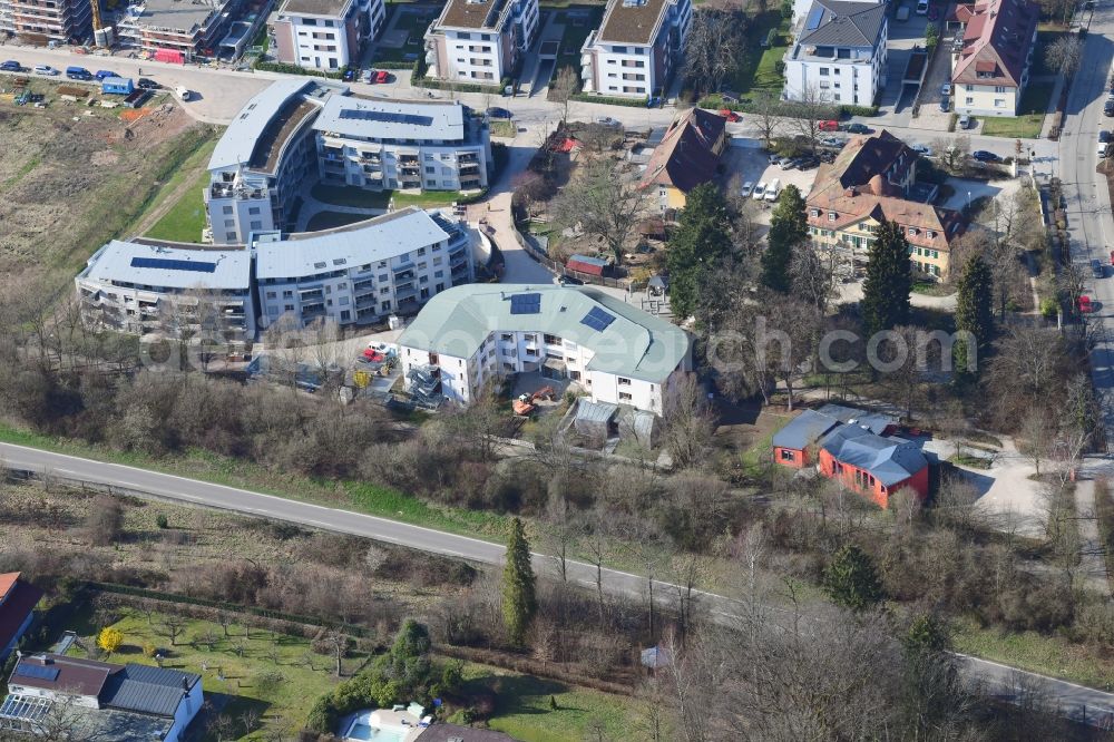
M511 313L511 296L540 295L536 313ZM518 304L518 302L516 302ZM592 310L614 315L603 330L583 321ZM598 314L598 312L597 312ZM589 371L659 383L688 355L688 334L590 286L467 284L434 295L399 345L471 358L494 332L538 332L584 345ZM544 360L539 358L538 360Z

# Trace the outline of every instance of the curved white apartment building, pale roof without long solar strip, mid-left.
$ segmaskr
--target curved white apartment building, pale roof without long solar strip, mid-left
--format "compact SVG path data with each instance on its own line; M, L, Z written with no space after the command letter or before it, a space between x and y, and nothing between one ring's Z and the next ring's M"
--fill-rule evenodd
M258 235L260 329L283 315L350 325L417 312L475 280L476 238L463 224L413 206L324 232Z

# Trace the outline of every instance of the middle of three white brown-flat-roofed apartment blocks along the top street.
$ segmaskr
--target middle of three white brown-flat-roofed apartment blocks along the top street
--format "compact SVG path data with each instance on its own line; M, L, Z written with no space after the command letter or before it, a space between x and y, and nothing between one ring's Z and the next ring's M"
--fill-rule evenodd
M538 0L449 0L426 32L427 75L499 85L538 35Z

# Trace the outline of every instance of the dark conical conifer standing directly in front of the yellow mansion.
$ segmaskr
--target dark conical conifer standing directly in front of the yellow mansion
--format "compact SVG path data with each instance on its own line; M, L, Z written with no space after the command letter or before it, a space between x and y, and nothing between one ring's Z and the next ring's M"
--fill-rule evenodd
M862 321L868 333L891 330L909 322L909 243L901 227L882 219L867 257L862 284Z

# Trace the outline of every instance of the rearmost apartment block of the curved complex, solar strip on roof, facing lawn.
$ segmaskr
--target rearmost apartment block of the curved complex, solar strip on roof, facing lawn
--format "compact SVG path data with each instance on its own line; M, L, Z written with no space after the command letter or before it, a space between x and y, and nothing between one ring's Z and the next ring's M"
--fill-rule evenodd
M371 191L486 188L487 123L450 100L332 96L313 124L323 182Z

